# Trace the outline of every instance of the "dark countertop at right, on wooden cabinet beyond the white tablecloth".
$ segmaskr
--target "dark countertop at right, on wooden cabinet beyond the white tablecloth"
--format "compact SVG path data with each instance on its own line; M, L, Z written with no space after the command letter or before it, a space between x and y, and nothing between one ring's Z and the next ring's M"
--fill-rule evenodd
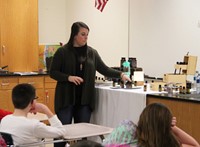
M171 99L171 100L180 100L187 102L195 102L200 103L200 94L197 94L195 91L191 94L179 94L179 93L161 93L161 94L147 94L147 97L155 97L155 98L163 98L163 99Z

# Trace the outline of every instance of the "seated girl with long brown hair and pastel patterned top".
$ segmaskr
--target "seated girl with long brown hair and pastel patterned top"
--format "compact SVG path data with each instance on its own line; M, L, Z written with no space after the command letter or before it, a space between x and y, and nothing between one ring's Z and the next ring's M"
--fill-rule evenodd
M198 142L176 126L176 118L163 104L148 105L140 115L138 125L126 121L104 140L107 147L199 147Z

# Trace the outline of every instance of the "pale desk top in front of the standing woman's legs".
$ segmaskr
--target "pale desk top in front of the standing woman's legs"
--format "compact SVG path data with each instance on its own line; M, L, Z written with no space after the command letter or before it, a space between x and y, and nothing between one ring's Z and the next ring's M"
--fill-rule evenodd
M64 136L67 140L77 140L86 137L100 136L109 134L113 128L95 125L91 123L76 123L64 125L67 134Z

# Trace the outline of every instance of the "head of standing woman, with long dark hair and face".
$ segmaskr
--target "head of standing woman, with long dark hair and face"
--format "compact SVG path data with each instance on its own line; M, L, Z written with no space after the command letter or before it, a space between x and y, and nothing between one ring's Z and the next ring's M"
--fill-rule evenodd
M83 22L75 22L71 27L71 35L68 41L70 46L84 46L87 44L89 27Z

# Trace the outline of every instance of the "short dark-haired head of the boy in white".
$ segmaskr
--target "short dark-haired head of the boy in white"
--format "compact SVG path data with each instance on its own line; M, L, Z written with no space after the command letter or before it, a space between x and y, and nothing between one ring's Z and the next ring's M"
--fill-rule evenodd
M30 84L18 84L12 90L13 105L17 109L25 109L35 99L35 88Z

